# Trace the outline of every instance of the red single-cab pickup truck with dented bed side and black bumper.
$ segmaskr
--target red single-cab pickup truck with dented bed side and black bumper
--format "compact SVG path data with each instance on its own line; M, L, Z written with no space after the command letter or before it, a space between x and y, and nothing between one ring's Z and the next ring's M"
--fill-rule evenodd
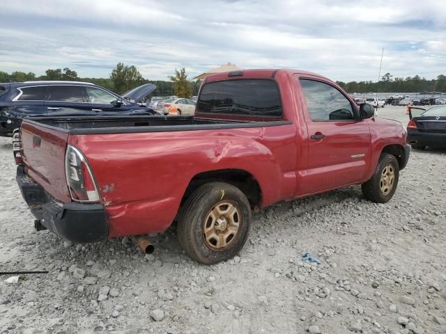
M406 129L299 70L214 74L187 116L30 118L14 136L36 228L86 243L163 232L207 264L236 255L252 209L350 184L387 202Z

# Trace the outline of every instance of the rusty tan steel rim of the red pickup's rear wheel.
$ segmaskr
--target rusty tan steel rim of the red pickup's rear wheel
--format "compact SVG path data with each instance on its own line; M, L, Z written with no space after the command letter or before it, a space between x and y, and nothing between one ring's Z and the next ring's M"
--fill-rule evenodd
M203 239L212 250L224 250L236 240L243 217L240 209L226 200L218 202L203 222Z

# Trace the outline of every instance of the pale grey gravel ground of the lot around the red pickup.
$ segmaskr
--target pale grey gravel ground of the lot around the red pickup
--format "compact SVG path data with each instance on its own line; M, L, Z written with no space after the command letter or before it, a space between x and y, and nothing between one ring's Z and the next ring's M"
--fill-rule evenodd
M404 111L379 116L406 125ZM35 232L11 148L0 139L0 271L49 273L1 276L0 333L446 333L446 150L412 151L386 205L353 186L264 209L240 256L208 267L175 228L146 257L126 238Z

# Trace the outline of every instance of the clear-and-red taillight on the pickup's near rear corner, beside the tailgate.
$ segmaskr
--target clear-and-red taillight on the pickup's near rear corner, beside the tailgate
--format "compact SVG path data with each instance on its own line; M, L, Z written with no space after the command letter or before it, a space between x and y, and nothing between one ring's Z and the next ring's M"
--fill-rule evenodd
M100 200L93 173L84 154L68 145L65 154L65 175L71 198L77 202L98 202Z

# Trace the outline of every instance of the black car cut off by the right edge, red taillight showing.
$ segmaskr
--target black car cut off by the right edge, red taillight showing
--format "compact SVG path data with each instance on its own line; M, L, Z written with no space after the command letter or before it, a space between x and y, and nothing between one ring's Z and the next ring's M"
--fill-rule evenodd
M407 142L415 150L446 148L446 106L408 108Z

